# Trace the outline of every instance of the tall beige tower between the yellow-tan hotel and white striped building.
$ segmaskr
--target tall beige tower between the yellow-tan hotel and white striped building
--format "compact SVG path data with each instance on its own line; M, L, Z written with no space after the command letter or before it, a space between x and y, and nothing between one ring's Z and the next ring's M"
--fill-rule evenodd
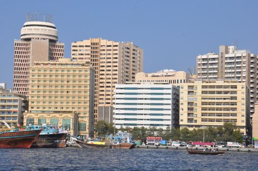
M96 71L95 123L98 115L113 114L115 85L135 81L136 73L143 70L143 50L132 42L114 42L101 38L74 42L71 43L71 57L92 64Z

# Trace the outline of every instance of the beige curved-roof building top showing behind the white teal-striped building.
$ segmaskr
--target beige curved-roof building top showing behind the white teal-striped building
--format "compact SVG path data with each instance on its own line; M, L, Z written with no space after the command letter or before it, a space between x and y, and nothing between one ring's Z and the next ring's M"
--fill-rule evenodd
M150 82L150 83L168 83L175 86L180 86L183 83L188 83L191 76L185 71L175 71L172 69L164 69L155 73L146 74L139 72L136 74L136 82Z

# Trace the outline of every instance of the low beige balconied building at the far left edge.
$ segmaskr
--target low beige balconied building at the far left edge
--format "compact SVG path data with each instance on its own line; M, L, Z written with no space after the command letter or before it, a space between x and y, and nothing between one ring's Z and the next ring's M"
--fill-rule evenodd
M6 84L0 84L0 119L6 121L9 126L23 125L23 112L27 110L28 102L25 96L12 92L6 88ZM1 126L4 123L1 122Z

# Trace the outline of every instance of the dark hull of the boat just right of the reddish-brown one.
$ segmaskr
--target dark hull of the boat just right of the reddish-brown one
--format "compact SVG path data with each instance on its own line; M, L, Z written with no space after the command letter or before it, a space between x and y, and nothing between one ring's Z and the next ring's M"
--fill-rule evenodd
M65 147L67 133L43 134L36 138L31 148ZM63 145L64 144L64 145Z

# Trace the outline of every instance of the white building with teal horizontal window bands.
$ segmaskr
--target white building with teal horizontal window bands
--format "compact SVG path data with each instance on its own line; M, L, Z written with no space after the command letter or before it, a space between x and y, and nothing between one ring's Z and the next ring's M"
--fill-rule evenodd
M179 88L158 83L116 85L116 128L179 127Z

